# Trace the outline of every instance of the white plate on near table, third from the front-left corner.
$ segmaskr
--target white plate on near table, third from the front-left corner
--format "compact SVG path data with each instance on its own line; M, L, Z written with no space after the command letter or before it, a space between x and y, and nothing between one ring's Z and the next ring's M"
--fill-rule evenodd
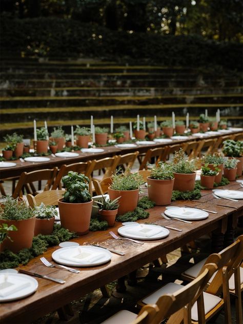
M118 228L118 233L128 238L153 240L167 237L170 231L164 227L157 225L139 224L138 226L127 225L120 227Z

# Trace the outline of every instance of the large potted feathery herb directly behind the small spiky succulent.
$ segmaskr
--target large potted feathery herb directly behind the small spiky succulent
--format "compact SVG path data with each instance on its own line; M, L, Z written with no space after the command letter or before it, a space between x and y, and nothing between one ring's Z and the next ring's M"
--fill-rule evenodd
M119 199L118 214L123 215L133 211L137 207L139 186L144 183L143 177L137 172L130 170L121 173L120 169L112 175L112 184L108 188L110 199Z

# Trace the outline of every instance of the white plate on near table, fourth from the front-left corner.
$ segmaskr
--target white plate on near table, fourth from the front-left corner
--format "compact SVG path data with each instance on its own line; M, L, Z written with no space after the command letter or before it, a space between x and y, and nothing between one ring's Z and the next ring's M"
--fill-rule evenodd
M200 220L208 218L209 213L196 208L178 207L165 210L165 214L171 218L185 220Z

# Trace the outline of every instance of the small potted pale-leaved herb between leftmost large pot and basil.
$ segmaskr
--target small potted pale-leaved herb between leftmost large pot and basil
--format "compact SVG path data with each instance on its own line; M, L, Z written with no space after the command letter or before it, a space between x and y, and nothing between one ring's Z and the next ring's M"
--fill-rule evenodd
M35 227L34 236L38 234L50 235L53 232L57 210L53 206L46 206L43 202L34 207Z

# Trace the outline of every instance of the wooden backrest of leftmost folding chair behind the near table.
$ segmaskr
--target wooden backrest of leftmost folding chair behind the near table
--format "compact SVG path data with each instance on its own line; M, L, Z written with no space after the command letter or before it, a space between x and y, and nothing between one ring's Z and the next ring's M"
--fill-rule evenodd
M12 194L13 198L17 198L18 196L23 196L23 188L26 189L27 193L31 193L32 195L36 195L38 191L34 187L35 181L42 181L47 180L44 191L50 190L51 186L53 185L54 179L57 174L57 167L53 169L44 169L44 170L37 170L32 172L22 172L16 188Z

